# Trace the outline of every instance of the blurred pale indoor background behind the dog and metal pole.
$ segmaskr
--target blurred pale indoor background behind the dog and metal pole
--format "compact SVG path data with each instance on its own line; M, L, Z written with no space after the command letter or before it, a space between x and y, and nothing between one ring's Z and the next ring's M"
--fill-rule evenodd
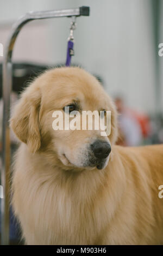
M77 18L72 65L96 75L115 99L120 113L117 144L163 143L163 56L158 55L163 43L163 0L1 0L0 43L5 47L12 24L28 11L83 5L90 7L90 16ZM23 27L12 58L12 104L36 74L65 64L70 22L71 18L62 17ZM0 56L1 97L2 62ZM2 108L1 99L1 130ZM12 134L11 141L14 151Z

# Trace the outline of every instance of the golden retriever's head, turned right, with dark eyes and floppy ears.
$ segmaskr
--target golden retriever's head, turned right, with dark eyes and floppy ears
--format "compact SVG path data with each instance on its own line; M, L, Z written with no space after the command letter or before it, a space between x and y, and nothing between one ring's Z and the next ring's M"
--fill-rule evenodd
M102 136L100 126L82 128L82 113L95 110L111 111L109 135ZM61 118L60 129L54 127L56 113ZM32 82L22 93L10 124L31 152L44 153L52 163L57 160L63 169L103 169L117 138L116 115L112 100L94 76L80 68L66 67L48 70ZM74 117L78 128L65 128L67 120L75 124Z

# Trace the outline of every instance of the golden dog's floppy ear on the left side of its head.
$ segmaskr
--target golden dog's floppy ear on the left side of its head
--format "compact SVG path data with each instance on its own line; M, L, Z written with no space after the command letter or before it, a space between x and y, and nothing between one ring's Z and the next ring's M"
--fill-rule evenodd
M29 86L22 93L10 120L10 126L17 138L26 143L33 153L39 150L41 146L39 130L40 103L41 93L39 88L35 88L33 85Z

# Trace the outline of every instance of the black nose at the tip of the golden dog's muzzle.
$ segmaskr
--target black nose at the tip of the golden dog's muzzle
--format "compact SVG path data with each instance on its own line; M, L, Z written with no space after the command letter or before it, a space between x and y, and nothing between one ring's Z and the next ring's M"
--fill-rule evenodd
M111 146L106 141L96 140L91 145L92 151L95 154L95 157L103 159L109 156L111 152Z

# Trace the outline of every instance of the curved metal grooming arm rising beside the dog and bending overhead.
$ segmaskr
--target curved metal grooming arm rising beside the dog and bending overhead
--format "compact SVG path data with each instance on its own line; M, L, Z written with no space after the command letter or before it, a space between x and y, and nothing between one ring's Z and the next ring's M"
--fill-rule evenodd
M53 17L89 16L89 7L76 9L31 11L22 16L13 26L5 46L3 61L3 132L2 132L2 171L1 184L3 196L1 199L1 244L9 244L9 200L10 200L10 94L12 89L12 51L15 40L21 28L29 21Z

